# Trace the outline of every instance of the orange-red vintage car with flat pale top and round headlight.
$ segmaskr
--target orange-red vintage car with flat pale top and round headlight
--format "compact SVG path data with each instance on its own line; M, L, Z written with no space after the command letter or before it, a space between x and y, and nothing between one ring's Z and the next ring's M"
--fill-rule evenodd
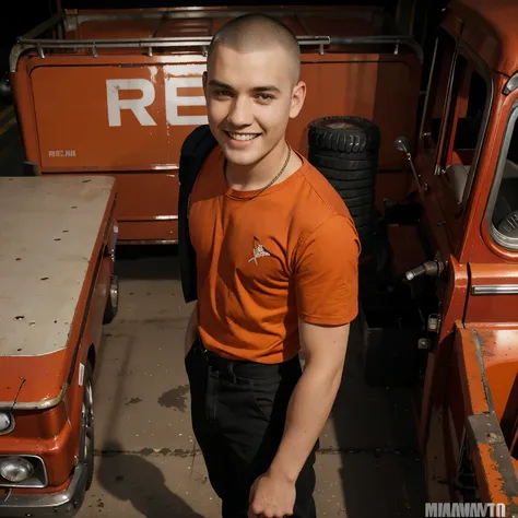
M111 177L0 177L0 516L73 514L92 481L115 204Z

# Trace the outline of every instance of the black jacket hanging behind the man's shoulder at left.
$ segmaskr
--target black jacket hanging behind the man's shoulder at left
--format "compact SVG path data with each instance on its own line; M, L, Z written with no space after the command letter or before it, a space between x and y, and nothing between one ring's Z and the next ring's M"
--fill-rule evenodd
M178 178L178 259L181 289L186 303L198 298L196 251L189 235L190 193L205 156L216 144L209 125L199 126L184 141L180 151Z

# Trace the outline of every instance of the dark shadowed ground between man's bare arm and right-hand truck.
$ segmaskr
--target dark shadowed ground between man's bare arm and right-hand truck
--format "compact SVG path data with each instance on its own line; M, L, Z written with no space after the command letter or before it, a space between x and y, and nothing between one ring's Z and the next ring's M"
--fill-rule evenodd
M354 322L332 411L348 518L423 517L426 496L414 414L410 388L366 384Z

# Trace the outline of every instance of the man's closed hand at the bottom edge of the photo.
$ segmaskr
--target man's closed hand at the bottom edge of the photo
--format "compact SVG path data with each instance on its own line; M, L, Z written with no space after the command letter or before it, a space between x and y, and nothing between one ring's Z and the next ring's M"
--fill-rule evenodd
M250 488L248 518L283 518L293 515L295 483L267 472L254 482Z

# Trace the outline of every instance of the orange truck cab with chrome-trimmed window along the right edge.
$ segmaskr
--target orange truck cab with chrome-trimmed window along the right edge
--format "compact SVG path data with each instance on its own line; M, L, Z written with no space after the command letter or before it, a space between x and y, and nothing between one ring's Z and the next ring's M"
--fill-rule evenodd
M428 496L505 505L505 516L518 509L517 16L505 0L448 4L415 145L395 144L426 258L403 282L437 303L419 342Z

